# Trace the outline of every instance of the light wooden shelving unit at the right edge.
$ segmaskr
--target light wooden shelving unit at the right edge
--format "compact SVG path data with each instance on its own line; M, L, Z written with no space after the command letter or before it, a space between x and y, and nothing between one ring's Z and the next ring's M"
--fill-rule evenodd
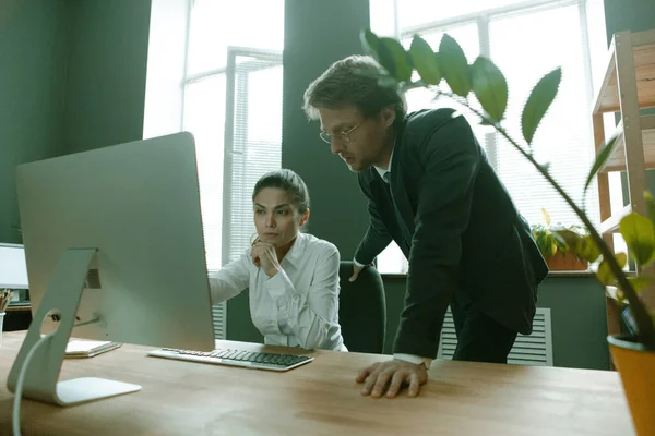
M615 131L618 143L605 167L598 172L600 231L610 246L614 245L612 233L618 231L624 215L634 210L647 216L643 193L647 190L646 170L655 169L655 114L642 116L640 110L654 107L655 29L616 33L592 109L596 150L606 141L603 114L618 112L621 116ZM611 171L624 171L628 177L628 206L615 215L611 214L609 204L607 177ZM644 271L636 271L642 272ZM651 296L651 303L655 304L655 295ZM620 332L620 307L610 293L607 298L607 327L609 335Z

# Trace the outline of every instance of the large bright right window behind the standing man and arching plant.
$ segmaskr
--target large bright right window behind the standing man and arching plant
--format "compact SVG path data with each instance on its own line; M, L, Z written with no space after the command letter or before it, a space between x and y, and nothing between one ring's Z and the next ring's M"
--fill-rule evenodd
M371 0L371 23L373 32L395 34L407 48L412 37L419 34L438 49L441 37L448 33L460 43L469 63L478 55L492 59L510 86L504 125L517 140L522 140L521 110L529 90L544 74L561 66L558 96L535 135L533 150L537 160L550 165L551 173L565 191L581 202L587 169L594 159L590 112L592 59L604 59L606 50L604 14L597 13L602 8L600 0L479 0L439 2L438 5L421 0ZM394 25L389 19L382 19L393 10L397 11ZM445 84L440 86L446 87ZM456 108L449 99L433 101L432 97L433 93L427 89L408 92L408 110ZM510 144L493 130L480 126L475 116L467 118L528 222L541 223L541 208L546 208L553 222L581 223L548 182ZM587 194L586 206L597 223L595 189ZM406 271L407 263L395 243L380 255L379 268L382 272Z

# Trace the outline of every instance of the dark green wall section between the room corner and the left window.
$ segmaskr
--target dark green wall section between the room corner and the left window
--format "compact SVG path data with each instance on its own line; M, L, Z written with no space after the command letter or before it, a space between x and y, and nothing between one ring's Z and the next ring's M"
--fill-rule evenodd
M143 136L150 0L68 0L66 152Z

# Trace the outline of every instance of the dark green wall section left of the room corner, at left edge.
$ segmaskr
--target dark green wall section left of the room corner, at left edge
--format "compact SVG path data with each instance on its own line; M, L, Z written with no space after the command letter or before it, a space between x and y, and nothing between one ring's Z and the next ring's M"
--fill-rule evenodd
M20 241L16 166L60 155L63 135L67 3L24 1L12 12L0 29L0 242Z

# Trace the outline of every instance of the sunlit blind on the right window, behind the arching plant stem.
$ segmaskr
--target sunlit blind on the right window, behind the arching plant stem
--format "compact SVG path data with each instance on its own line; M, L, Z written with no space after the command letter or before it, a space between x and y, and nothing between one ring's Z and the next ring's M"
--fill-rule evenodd
M529 90L545 73L562 68L557 97L543 119L533 142L533 152L574 201L582 191L594 159L591 130L591 74L583 45L577 4L535 11L519 16L491 19L489 39L491 59L510 84L508 130L522 138L521 111ZM557 32L551 32L557 23ZM521 37L517 37L521 35ZM535 168L504 138L497 137L497 171L512 198L531 223L543 223L541 208L553 223L581 225L573 210ZM587 210L598 223L598 201L590 190Z

